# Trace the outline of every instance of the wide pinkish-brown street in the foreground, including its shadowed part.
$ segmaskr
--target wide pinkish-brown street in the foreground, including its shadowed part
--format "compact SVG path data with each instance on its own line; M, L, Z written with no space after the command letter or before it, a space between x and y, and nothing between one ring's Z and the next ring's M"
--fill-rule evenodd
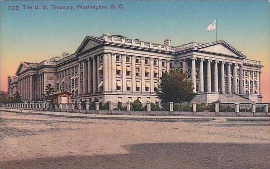
M270 168L269 122L0 112L1 168Z

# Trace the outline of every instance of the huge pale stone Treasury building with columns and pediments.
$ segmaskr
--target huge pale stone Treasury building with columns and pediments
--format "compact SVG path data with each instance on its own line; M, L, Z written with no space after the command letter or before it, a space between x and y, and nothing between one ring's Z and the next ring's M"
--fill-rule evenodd
M72 93L71 102L158 102L162 72L187 72L197 93L193 102L261 102L259 61L248 60L224 41L171 46L120 35L86 36L77 50L40 63L21 62L17 90L23 101L44 99L45 86Z

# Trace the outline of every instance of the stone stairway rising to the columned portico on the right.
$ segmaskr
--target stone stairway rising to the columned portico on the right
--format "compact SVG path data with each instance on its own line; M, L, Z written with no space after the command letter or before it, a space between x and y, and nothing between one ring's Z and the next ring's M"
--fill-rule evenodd
M255 103L237 94L219 94L220 103Z

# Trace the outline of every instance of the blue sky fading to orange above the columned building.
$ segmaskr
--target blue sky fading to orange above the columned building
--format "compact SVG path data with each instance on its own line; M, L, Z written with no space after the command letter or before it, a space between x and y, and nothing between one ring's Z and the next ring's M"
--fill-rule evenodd
M7 75L14 76L20 62L73 53L87 35L120 34L159 44L170 38L172 46L208 43L215 41L215 31L206 28L216 19L218 40L264 65L263 102L270 102L268 1L2 1L0 5L0 90L6 91ZM107 9L82 10L77 5Z

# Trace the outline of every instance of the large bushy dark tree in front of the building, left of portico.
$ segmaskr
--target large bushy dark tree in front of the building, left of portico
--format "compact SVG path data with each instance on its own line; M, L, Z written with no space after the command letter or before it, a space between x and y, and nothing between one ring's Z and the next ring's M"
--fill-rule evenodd
M179 103L189 102L193 99L195 96L194 87L192 81L186 75L178 69L164 72L159 79L159 90L156 92L161 102Z

